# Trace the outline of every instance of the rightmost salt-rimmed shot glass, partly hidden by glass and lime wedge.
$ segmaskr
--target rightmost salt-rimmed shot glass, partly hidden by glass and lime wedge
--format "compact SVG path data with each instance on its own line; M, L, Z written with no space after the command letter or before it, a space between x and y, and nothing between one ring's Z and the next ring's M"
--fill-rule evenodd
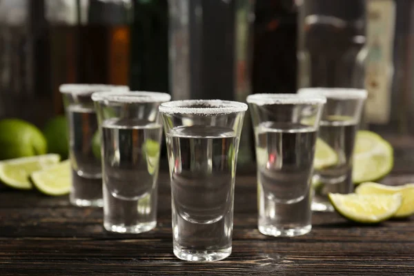
M367 92L353 88L302 88L298 93L326 97L319 124L319 144L326 156L315 162L312 210L333 211L328 193L353 192L353 148Z

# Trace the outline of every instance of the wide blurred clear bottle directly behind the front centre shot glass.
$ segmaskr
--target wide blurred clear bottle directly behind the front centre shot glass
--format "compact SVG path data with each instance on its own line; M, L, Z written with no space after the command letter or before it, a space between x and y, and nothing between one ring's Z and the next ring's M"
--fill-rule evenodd
M246 101L251 92L253 1L170 0L168 3L172 99ZM248 116L243 131L238 161L248 164L253 161Z

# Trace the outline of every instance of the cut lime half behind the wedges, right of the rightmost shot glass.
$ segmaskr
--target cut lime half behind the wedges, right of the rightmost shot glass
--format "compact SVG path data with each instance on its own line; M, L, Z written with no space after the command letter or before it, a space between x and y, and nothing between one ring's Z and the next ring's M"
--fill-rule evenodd
M355 184L381 179L393 166L393 147L388 141L371 131L357 132L352 175Z

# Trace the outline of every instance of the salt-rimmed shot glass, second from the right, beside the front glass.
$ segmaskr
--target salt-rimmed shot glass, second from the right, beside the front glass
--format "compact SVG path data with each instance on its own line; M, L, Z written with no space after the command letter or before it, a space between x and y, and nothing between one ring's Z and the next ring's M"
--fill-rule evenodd
M326 99L295 94L247 97L255 132L258 228L269 236L311 231L311 179Z

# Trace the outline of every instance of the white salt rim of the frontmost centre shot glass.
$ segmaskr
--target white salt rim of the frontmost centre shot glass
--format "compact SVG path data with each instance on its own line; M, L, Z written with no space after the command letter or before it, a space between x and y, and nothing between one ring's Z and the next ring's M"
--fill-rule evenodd
M224 115L247 110L247 104L220 99L187 99L161 103L159 112L186 115Z

